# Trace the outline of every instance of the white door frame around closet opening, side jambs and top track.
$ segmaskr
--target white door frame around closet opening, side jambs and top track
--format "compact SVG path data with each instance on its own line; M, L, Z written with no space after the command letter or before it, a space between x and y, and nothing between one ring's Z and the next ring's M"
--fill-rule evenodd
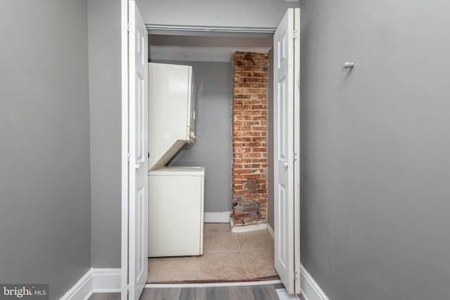
M129 141L129 131L128 131L128 122L129 122L129 63L128 63L128 23L129 23L129 0L121 0L121 21L120 21L120 30L121 30L121 81L122 81L122 139L121 139L121 220L122 220L122 234L121 234L121 299L127 300L127 285L128 285L128 223L129 223L129 204L128 204L128 195L129 195L129 178L128 178L128 141ZM150 29L150 27L158 27L158 30L174 30L174 26L158 26L158 25L147 25L146 27ZM295 27L300 28L300 24L296 24ZM220 30L217 30L217 27L186 27L177 26L177 30L180 31L207 31L207 32L235 32L236 27L220 27ZM214 30L211 30L214 29ZM257 32L258 30L262 30L261 32ZM276 28L253 28L253 27L242 27L239 28L239 33L270 33L274 34ZM300 34L300 32L299 32ZM295 51L294 56L295 60L300 61L300 37L295 40ZM272 70L274 66L272 65ZM269 69L270 70L270 69ZM300 67L296 70L295 73L295 98L300 100ZM272 78L272 80L274 80ZM299 101L300 105L300 101ZM274 112L272 112L273 114ZM300 107L295 107L294 117L297 120L300 120ZM295 251L295 263L298 263L299 266L295 266L295 270L300 270L300 121L294 122L295 132L297 134L294 138L294 147L295 152L297 153L297 161L294 163L294 174L295 174L295 190L297 190L297 194L294 198L294 223L295 223L295 236L294 236L294 251ZM274 172L274 169L271 170ZM147 211L148 214L148 211ZM126 241L126 242L125 242ZM300 278L300 273L297 274ZM295 292L300 294L300 280L295 280Z

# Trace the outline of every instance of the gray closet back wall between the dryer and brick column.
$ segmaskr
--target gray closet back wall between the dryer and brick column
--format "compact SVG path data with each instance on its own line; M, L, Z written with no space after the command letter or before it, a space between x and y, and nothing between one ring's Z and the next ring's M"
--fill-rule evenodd
M162 61L159 61L162 63ZM170 165L205 167L205 211L231 211L231 63L165 61L192 65L195 78L195 136Z

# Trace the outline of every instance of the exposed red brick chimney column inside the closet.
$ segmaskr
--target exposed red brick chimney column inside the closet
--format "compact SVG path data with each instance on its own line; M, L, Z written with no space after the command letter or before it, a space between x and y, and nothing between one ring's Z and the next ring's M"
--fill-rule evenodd
M233 61L233 219L267 219L267 67L269 56L236 52Z

